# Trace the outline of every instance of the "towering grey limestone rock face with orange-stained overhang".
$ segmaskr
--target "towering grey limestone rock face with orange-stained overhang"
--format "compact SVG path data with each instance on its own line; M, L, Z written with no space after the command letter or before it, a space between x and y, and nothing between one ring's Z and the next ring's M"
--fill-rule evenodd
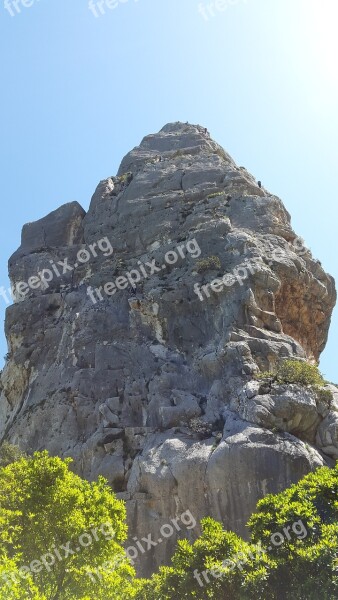
M335 388L325 403L254 379L318 359L334 281L203 127L166 125L87 213L74 202L25 225L9 272L1 435L107 477L131 540L187 510L243 534L260 497L338 456ZM147 573L197 533L175 529L136 563Z

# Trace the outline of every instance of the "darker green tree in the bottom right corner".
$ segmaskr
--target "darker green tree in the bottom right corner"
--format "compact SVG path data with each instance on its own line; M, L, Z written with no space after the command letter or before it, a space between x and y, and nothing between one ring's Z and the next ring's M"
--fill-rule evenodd
M298 523L302 523L301 536L290 536ZM249 527L253 541L260 540L263 546L276 532L284 533L283 544L272 545L273 597L338 598L338 466L317 469L284 492L260 500Z

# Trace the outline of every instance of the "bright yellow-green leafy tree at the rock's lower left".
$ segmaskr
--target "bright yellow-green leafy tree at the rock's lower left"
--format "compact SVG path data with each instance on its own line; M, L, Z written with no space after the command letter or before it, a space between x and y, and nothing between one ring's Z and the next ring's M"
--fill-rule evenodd
M89 483L70 463L41 452L0 469L1 600L9 591L21 599L23 583L34 600L133 597L124 503L103 477Z

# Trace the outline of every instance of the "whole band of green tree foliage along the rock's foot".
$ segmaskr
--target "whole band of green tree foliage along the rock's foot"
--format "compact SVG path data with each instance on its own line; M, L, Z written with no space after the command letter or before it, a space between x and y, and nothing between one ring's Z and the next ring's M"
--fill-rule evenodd
M338 466L262 499L249 541L208 517L138 580L123 502L70 463L42 452L0 468L0 600L338 599Z

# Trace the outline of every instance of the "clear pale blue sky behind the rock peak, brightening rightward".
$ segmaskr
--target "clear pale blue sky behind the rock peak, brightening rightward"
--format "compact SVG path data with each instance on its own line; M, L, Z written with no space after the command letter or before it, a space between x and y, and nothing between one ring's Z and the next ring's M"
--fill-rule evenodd
M207 0L120 0L97 18L88 0L17 0L20 13L12 1L0 0L0 285L25 222L88 208L123 155L176 120L208 127L280 196L337 278L336 0L228 0L214 16ZM335 313L321 361L333 381L337 334Z

